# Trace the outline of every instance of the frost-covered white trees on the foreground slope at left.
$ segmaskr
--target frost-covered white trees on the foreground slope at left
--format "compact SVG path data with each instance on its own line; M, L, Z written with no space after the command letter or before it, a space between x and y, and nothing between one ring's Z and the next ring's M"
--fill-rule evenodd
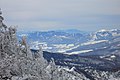
M89 80L83 73L57 66L52 58L48 62L41 47L30 50L26 37L18 43L16 29L2 21L0 16L0 80Z

